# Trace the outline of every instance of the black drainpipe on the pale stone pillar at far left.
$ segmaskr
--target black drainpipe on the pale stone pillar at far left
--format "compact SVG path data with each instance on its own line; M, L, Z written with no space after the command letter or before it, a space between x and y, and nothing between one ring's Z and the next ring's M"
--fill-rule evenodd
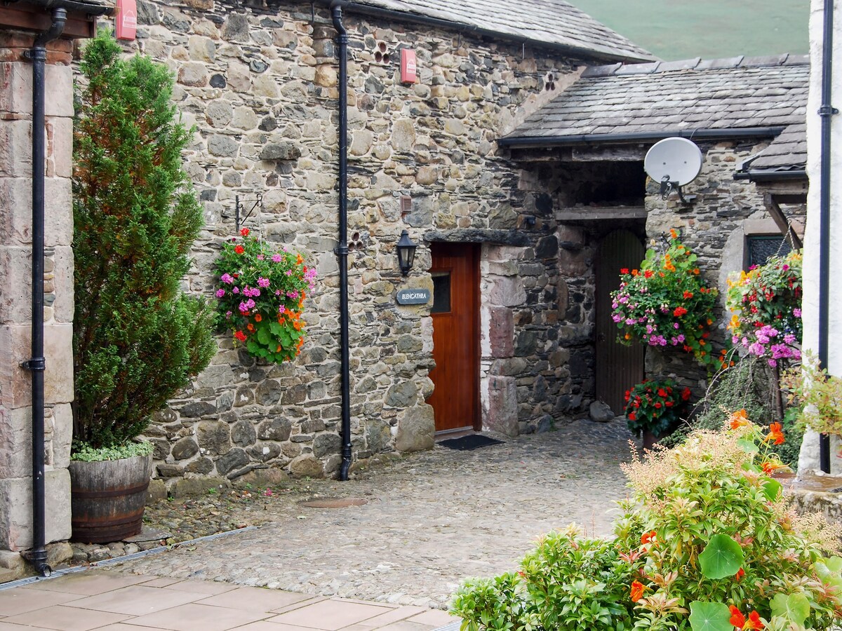
M56 8L50 29L27 51L32 60L32 356L24 369L32 373L32 551L29 560L42 576L47 565L44 492L44 74L46 45L61 35L67 10Z

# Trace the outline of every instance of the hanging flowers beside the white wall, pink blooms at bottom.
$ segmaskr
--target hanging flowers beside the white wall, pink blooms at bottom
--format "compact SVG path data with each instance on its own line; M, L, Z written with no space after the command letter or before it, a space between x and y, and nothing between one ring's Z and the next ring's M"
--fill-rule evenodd
M734 312L728 329L735 346L765 358L801 358L802 254L771 257L765 265L728 279L727 306Z

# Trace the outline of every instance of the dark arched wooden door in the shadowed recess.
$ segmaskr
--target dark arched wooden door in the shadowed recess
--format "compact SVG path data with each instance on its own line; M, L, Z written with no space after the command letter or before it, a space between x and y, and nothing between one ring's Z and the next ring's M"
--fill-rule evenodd
M626 230L611 232L600 243L596 272L596 398L607 403L615 414L622 414L624 395L643 380L644 347L635 342L617 342L617 328L611 320L611 292L620 287L620 270L637 268L645 255L642 243Z

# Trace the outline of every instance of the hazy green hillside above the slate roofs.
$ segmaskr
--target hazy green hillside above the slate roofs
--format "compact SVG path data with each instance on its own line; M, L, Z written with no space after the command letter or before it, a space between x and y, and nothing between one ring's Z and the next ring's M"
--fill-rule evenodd
M809 0L568 0L664 60L807 52Z

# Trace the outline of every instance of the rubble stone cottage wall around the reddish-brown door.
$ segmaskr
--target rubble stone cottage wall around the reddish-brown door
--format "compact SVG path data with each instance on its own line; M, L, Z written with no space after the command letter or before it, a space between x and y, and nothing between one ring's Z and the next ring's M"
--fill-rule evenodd
M301 356L262 365L221 337L210 368L148 432L157 475L170 486L185 476L233 479L264 467L333 475L340 461L338 87L328 14L310 3L138 4L134 46L172 68L179 111L198 131L186 157L205 231L189 289L210 295L212 263L234 234L237 194L246 209L262 194L247 225L301 252L319 273ZM546 428L572 405L563 394L568 356L556 337L552 208L518 188L517 167L498 156L495 140L552 96L551 73L569 81L581 62L352 14L344 21L354 459L431 440L429 305L395 303L397 289L431 287L430 241L483 244L483 423ZM418 56L415 85L398 82L404 46ZM421 244L408 279L394 249L404 228ZM504 419L494 417L498 409Z

